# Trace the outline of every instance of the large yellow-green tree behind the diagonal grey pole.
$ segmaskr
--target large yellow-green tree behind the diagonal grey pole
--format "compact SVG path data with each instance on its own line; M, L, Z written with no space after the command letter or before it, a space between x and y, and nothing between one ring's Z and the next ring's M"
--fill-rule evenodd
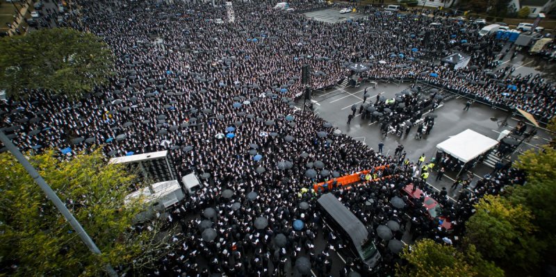
M106 263L140 269L158 258L155 253L164 246L158 240L160 223L154 221L152 231L132 227L145 207L140 201L124 205L127 187L135 180L124 167L107 165L99 149L69 161L60 161L52 150L30 159L102 255L88 250L33 178L10 153L3 153L0 271L14 276L99 276Z

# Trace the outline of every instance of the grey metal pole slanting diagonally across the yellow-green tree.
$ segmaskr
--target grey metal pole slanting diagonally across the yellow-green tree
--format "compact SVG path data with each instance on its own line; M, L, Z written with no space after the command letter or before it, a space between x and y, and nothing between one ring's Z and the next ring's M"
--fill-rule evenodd
M33 180L35 180L44 194L47 194L47 197L54 203L54 205L56 205L56 208L58 208L67 222L69 222L72 228L74 228L74 230L77 232L79 237L81 237L81 240L85 243L89 250L92 253L100 254L101 252L100 249L97 247L97 244L95 244L95 242L91 240L87 232L85 232L85 229L83 229L83 226L79 224L79 221L75 219L70 210L67 210L64 203L60 200L60 198L58 198L58 195L56 195L56 192L54 192L54 190L52 190L47 182L44 181L35 167L33 167L33 165L31 165L31 163L25 158L25 156L23 156L21 151L17 149L17 146L15 146L15 144L13 144L13 142L8 137L6 137L3 131L0 131L0 141L6 146L10 153L15 156L17 161L23 165L27 173L31 176L31 178L33 178ZM105 269L109 276L117 277L116 271L114 271L111 265L106 265Z

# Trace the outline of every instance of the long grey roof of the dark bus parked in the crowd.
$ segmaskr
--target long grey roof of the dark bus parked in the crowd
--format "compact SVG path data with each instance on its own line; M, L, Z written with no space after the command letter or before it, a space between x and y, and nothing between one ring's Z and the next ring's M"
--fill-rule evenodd
M317 202L332 216L336 223L345 228L354 244L360 248L361 242L368 237L367 228L363 226L361 221L350 210L347 210L345 205L332 193L322 194Z

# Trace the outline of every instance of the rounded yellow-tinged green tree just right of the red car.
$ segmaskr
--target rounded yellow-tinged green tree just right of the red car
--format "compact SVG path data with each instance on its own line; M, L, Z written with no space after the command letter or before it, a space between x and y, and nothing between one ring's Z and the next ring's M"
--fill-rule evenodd
M532 235L536 226L532 224L530 210L491 195L484 196L475 210L475 215L466 222L466 239L484 257L523 269L538 264L542 246Z

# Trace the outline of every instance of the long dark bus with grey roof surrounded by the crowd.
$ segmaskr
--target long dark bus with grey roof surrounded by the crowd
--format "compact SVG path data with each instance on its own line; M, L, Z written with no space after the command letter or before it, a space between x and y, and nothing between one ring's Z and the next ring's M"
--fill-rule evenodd
M376 269L381 255L363 223L332 193L322 194L317 203L329 228L348 242L352 258L361 260L370 271Z

